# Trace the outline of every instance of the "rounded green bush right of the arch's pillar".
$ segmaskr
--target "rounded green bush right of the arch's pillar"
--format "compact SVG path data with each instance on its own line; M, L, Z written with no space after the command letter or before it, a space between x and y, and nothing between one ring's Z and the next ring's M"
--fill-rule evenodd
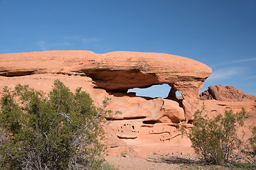
M202 111L196 111L195 125L187 133L196 154L203 162L223 165L232 162L234 150L242 145L238 128L244 125L245 109L239 113L225 111L224 115L208 118Z

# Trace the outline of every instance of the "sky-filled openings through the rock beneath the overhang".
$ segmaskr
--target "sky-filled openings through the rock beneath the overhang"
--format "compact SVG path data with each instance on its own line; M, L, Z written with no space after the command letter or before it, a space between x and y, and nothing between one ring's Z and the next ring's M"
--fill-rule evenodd
M152 85L148 88L129 89L127 93L128 94L135 93L135 96L139 96L139 97L166 98L169 95L170 91L171 91L171 86L169 86L169 84L156 84L156 85ZM181 93L176 91L176 97L178 99L182 99Z

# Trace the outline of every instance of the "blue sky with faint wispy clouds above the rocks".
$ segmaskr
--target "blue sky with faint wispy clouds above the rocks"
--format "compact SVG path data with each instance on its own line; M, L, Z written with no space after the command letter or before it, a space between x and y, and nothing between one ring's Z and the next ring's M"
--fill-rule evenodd
M203 90L256 96L256 0L0 0L0 22L0 54L169 53L213 69Z

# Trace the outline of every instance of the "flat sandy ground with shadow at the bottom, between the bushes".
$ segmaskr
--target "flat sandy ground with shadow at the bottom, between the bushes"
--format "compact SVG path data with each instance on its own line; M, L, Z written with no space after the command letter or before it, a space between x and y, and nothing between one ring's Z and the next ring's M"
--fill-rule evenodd
M185 169L185 170L231 170L240 169L234 166L215 166L198 164L196 155L191 154L150 154L146 158L129 156L107 156L109 164L119 170L149 170L149 169Z

